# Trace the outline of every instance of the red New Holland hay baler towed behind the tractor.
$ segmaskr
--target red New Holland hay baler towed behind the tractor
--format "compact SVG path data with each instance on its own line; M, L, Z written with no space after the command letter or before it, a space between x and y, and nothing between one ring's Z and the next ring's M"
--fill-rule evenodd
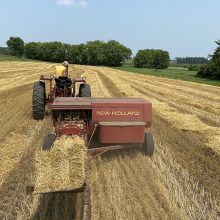
M57 97L51 110L55 134L46 136L44 149L57 136L79 135L93 155L131 147L142 147L146 155L153 155L153 137L146 132L152 105L145 99Z

